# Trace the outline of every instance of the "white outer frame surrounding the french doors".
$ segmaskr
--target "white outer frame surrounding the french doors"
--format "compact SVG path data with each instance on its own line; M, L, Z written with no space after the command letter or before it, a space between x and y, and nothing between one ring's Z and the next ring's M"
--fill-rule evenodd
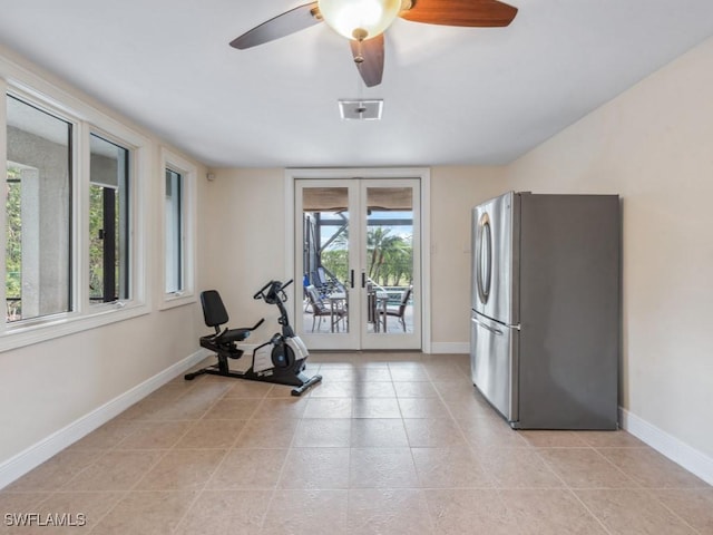
M339 167L339 168L286 168L285 169L285 268L286 276L294 276L295 270L295 181L297 179L342 179L342 178L416 178L421 183L421 351L431 352L431 241L430 241L430 194L431 172L428 167ZM297 281L300 282L300 281ZM299 288L299 284L295 285ZM294 292L299 295L299 292ZM297 299L289 305L291 314L301 312Z

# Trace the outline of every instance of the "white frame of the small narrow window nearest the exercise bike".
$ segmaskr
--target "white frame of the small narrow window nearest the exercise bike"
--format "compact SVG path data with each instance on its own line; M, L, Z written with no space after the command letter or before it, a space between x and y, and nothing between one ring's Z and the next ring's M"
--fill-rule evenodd
M183 253L183 290L177 292L166 291L166 171L170 169L182 176L182 253ZM168 310L196 302L196 189L198 168L193 163L177 155L167 147L160 149L160 255L162 270L158 284L158 309Z

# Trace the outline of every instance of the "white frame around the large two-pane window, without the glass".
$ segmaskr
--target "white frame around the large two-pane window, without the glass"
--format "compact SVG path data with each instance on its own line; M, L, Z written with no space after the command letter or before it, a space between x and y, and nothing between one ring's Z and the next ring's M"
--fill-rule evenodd
M7 169L7 95L47 110L72 125L71 135L71 309L68 312L0 324L0 352L95 329L150 312L147 292L152 142L125 124L74 97L0 56L0 166ZM129 299L89 303L89 134L114 140L130 150L129 166ZM4 273L6 207L0 207L0 265ZM0 284L6 300L6 285Z

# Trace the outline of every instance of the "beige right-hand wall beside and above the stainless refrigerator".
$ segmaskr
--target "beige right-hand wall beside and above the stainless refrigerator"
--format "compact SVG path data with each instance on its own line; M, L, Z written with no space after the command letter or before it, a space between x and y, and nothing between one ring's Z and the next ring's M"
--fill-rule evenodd
M507 169L623 198L621 405L713 457L713 39Z

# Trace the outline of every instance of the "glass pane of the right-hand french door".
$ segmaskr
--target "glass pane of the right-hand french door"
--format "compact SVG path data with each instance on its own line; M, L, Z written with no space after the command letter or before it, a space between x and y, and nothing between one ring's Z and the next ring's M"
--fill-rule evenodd
M367 188L367 329L413 332L413 189Z

